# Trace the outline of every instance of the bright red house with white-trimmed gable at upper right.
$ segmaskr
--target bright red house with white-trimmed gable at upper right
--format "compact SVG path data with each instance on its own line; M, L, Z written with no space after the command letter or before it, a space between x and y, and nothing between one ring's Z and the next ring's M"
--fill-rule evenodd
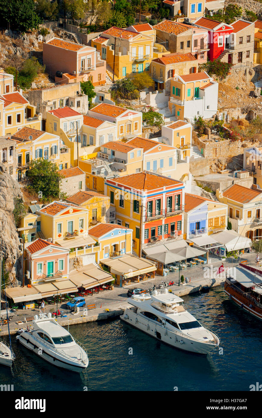
M207 18L194 20L193 26L208 30L208 58L210 61L219 58L225 49L230 48L230 37L232 37L231 33L234 31L233 26Z

